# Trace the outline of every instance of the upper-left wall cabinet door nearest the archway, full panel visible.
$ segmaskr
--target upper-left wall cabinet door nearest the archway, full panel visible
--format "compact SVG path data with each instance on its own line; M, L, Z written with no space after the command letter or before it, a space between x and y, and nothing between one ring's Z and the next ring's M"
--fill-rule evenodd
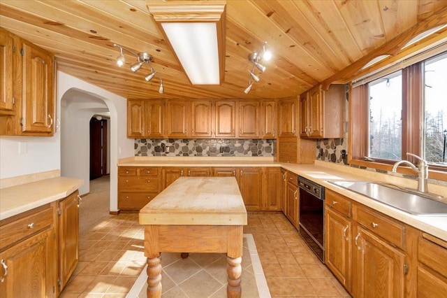
M52 135L54 127L53 57L35 45L23 43L22 132Z

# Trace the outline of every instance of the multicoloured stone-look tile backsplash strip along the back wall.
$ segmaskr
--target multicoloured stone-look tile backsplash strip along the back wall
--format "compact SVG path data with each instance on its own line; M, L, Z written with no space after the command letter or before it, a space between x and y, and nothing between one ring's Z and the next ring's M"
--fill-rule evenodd
M135 139L135 156L276 156L274 139Z

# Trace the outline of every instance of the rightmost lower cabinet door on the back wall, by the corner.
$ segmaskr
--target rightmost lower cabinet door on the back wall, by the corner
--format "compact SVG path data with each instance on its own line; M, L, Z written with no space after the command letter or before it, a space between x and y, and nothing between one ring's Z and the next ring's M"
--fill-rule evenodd
M281 169L265 168L263 210L281 210Z

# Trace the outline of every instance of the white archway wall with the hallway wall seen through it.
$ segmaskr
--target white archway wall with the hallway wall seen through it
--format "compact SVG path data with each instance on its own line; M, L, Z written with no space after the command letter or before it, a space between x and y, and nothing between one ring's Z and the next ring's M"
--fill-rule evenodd
M126 99L66 73L58 72L57 83L59 103L63 104L59 111L64 116L61 120L63 176L84 179L85 185L89 185L89 121L95 113L104 111L98 101L103 101L110 111L110 211L117 211L117 160L134 154L133 139L127 139ZM80 193L88 191L89 186L84 186Z

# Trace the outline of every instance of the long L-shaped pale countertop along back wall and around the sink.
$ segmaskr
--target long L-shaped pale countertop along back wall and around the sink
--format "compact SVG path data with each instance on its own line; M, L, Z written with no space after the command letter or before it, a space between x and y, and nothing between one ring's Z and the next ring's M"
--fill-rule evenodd
M357 169L332 162L316 161L315 164L288 164L274 162L272 157L129 157L120 159L119 166L281 166L300 176L313 180L330 190L339 192L353 201L400 220L412 227L447 241L446 216L411 215L362 194L328 183L328 180L372 180L417 188L418 181L400 176ZM429 184L430 192L447 197L447 187Z

